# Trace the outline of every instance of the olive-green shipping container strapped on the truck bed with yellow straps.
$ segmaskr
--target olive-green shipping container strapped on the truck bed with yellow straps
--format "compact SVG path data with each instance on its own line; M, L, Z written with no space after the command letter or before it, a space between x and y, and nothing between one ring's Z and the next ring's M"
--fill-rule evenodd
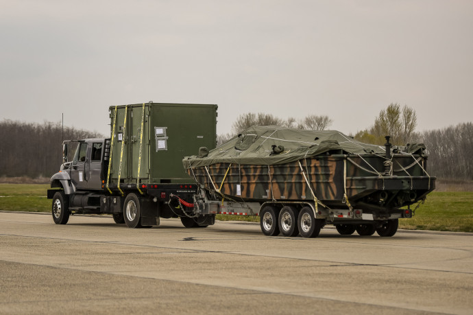
M217 144L217 105L110 106L112 184L189 183L184 156Z

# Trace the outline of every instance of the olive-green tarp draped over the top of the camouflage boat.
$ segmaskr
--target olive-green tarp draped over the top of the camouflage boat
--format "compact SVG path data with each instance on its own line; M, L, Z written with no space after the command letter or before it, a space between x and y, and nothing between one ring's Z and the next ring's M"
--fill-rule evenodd
M385 147L361 143L338 131L253 126L214 150L186 156L187 170L215 163L278 165L320 154L385 154ZM197 153L197 152L196 152Z

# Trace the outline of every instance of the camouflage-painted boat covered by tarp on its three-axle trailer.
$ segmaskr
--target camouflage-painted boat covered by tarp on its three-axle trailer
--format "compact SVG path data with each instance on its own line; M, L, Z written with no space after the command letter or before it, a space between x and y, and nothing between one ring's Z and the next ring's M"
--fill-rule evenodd
M424 200L435 188L435 178L426 172L424 150L422 144L393 147L389 137L380 146L337 131L268 126L252 127L210 152L201 148L199 156L186 157L183 164L206 190L208 200L239 203L248 209L241 213L259 214L267 235L279 231L265 231L265 207L274 212L271 218L267 215L266 227L274 228L271 220L279 217L278 227L284 235L299 232L307 236L304 227L310 230L313 226L294 223L298 214L311 208L312 215L305 209L306 219L312 220L306 224L335 224L341 234L356 230L370 235L376 229L380 235L392 236L397 219L410 218L409 206ZM250 202L261 207L251 207ZM400 209L405 206L409 208ZM219 212L225 212L225 207L231 206L222 202ZM287 215L286 208L294 213ZM280 218L281 211L289 221ZM284 231L288 222L294 230L291 233Z

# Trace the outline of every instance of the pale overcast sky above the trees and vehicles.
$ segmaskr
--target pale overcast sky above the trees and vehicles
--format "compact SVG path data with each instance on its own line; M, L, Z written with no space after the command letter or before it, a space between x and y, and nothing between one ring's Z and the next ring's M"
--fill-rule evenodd
M472 121L473 1L0 0L0 119L108 135L150 100L218 104L219 134L248 112L354 133L391 102L419 131Z

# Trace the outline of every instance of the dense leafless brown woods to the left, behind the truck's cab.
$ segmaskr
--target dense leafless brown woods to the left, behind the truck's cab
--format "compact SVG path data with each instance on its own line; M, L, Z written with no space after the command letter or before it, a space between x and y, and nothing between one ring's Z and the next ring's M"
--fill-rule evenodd
M102 137L64 127L64 140ZM62 125L0 121L0 176L49 177L62 163Z

